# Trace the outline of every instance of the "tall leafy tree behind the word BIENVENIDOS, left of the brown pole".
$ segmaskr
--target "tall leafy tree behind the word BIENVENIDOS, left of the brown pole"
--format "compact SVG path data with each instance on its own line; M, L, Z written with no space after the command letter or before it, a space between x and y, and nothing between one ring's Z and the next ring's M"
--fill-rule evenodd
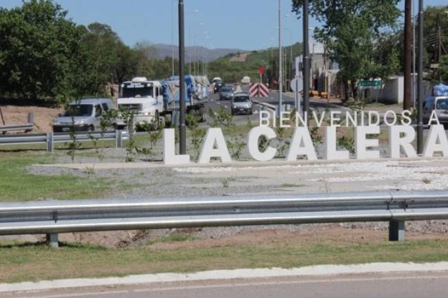
M325 44L330 58L340 65L338 77L345 86L345 99L349 98L349 82L353 96L357 95L357 81L371 78L373 74L392 72L394 67L378 67L376 64L396 61L396 52L383 52L390 57L375 54L381 36L393 28L400 10L398 0L312 0L309 12L323 23L314 34ZM303 0L292 0L292 11L301 14ZM382 52L382 51L380 51ZM376 61L380 58L380 61ZM380 70L380 71L379 71Z

